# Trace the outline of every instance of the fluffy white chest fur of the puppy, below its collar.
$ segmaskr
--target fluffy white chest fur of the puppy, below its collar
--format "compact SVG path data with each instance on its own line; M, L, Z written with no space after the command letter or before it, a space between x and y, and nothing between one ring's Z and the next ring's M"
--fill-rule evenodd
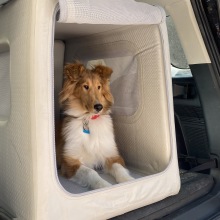
M95 120L87 119L90 134L83 132L83 120L72 119L66 124L64 154L91 168L103 165L106 158L117 156L111 117L101 115Z

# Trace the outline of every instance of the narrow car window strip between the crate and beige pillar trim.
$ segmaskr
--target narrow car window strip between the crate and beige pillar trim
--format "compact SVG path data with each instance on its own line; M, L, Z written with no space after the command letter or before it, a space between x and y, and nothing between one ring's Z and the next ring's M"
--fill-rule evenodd
M171 16L167 17L172 77L192 77Z

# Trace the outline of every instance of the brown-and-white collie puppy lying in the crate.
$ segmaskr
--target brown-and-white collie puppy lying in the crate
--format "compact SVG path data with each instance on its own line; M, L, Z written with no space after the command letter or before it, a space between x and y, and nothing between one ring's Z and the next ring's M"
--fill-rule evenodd
M67 64L60 92L66 117L56 135L58 166L63 176L92 189L111 185L95 171L100 167L118 183L133 179L118 153L109 115L111 74L102 65L89 70L81 63Z

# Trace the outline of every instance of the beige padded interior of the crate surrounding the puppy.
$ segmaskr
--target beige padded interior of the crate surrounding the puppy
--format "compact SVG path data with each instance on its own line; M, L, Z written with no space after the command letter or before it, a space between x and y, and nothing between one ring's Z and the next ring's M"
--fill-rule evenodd
M171 146L167 119L163 46L158 25L101 25L56 23L54 43L55 118L62 118L58 94L63 67L79 60L86 67L102 64L113 69L112 118L116 143L126 167L135 178L164 171ZM59 172L58 172L59 173ZM112 184L108 174L100 175ZM59 175L63 187L87 192Z

